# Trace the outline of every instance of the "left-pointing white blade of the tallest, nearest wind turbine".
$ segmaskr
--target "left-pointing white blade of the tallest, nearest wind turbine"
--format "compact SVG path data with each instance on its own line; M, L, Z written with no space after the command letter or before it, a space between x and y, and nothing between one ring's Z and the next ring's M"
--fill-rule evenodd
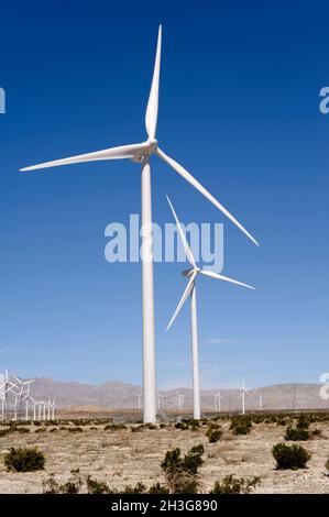
M30 167L21 168L21 172L36 170L39 168L57 167L59 165L70 165L84 162L98 162L101 160L122 160L122 158L134 158L147 147L147 143L141 144L121 145L119 147L110 147L103 151L96 151L95 153L78 154L69 158L55 160L54 162L44 162L42 164L32 165Z

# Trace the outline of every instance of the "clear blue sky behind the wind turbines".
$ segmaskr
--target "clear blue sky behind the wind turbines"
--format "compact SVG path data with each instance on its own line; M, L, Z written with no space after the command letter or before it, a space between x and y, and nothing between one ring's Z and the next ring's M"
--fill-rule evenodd
M199 283L201 384L317 382L329 369L326 1L94 0L1 7L0 367L141 382L140 264L109 264L106 226L140 211L131 162L30 164L138 142L163 23L157 138L260 240L153 160L154 220L224 222L223 273ZM190 384L182 264L155 266L157 380Z

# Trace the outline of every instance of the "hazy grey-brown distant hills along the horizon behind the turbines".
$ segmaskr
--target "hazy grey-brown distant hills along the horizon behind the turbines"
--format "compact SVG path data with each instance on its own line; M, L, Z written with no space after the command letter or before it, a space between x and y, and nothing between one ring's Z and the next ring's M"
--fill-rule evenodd
M263 409L329 409L329 400L319 396L318 384L275 384L251 389L245 395L246 409L259 409L262 398ZM111 381L99 385L59 382L52 378L35 378L31 395L36 398L56 397L56 405L97 406L108 409L138 408L141 386ZM220 391L221 409L239 410L241 397L239 389L202 389L201 406L204 410L215 409L213 394ZM162 409L176 409L178 395L184 395L184 409L193 407L193 393L189 388L160 391Z

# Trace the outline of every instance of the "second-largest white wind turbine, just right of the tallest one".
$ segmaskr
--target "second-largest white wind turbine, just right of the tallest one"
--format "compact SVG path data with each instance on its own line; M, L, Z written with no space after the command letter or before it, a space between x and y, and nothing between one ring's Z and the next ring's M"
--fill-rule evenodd
M188 295L190 295L190 321L191 321L191 362L193 362L193 402L194 402L194 418L200 418L200 386L199 386L199 359L198 359L198 324L197 324L197 294L196 294L196 278L197 276L205 275L210 276L210 278L216 278L219 280L230 282L231 284L237 284L243 287L248 287L250 289L254 289L250 285L242 284L242 282L234 280L233 278L229 278L228 276L219 275L218 273L213 273L212 271L208 270L200 270L195 261L195 257L191 253L191 250L187 243L185 233L183 228L178 221L174 207L167 196L167 201L169 204L171 210L174 215L178 232L180 235L180 240L183 243L183 248L185 251L186 258L191 265L191 268L188 271L183 272L183 275L188 278L188 284L183 293L183 296L176 307L176 310L167 326L167 330L172 327L174 320L176 319L178 312L180 311L184 302L186 301Z

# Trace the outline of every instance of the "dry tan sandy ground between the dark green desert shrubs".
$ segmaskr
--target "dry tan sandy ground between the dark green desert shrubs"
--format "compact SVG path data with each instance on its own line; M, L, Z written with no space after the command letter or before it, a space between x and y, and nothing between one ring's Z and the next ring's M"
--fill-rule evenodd
M224 475L235 474L239 477L260 476L262 483L255 493L329 493L329 476L325 469L329 457L329 422L312 425L311 428L322 430L322 437L300 443L312 453L312 458L308 469L299 471L275 470L271 449L284 441L285 432L284 426L275 424L254 425L249 436L237 437L229 431L229 422L223 422L224 433L217 443L208 442L206 427L183 431L168 426L139 432L131 432L131 426L107 431L103 427L84 426L83 432L59 430L58 427L56 432L50 432L52 427L47 427L46 432L35 433L37 428L29 426L30 433L14 432L1 437L0 493L40 493L42 481L51 473L64 482L74 469L119 490L138 482L150 486L164 482L160 463L168 449L179 447L187 452L198 443L202 443L206 450L205 463L199 470L202 492L211 490L215 481ZM37 447L45 453L45 470L7 472L3 457L10 447Z

